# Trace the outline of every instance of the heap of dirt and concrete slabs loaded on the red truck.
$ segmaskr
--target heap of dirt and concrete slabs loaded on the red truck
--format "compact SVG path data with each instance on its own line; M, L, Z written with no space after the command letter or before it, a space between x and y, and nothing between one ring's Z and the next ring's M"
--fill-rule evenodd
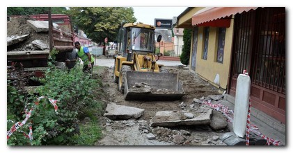
M57 24L54 24L58 28ZM45 51L49 49L49 22L29 17L7 21L7 51Z

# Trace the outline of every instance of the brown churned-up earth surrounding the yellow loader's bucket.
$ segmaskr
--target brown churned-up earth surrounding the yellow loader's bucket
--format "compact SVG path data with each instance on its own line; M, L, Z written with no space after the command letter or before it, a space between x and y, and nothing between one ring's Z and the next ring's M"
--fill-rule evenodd
M193 98L208 97L210 95L219 95L219 89L205 82L198 76L189 73L188 69L180 69L178 66L165 66L170 73L178 73L179 80L185 96L181 100L174 101L143 101L143 100L124 100L124 95L118 91L118 84L113 82L113 68L103 72L103 90L106 92L104 101L114 102L117 105L126 105L129 107L137 107L145 109L145 114L141 116L141 120L150 120L157 111L182 110L180 104L184 102L186 105L193 103Z

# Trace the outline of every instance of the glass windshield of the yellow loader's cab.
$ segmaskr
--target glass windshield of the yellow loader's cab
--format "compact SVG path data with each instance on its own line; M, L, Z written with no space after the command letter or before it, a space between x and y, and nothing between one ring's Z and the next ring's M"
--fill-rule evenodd
M150 51L154 49L154 30L132 28L132 50Z

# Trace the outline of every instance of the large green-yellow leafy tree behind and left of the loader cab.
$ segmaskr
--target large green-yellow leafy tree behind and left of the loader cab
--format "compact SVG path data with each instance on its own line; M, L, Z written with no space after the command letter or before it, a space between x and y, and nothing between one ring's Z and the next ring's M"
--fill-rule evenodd
M136 21L132 7L78 7L70 8L68 15L93 42L104 42L105 37L116 42L121 23Z

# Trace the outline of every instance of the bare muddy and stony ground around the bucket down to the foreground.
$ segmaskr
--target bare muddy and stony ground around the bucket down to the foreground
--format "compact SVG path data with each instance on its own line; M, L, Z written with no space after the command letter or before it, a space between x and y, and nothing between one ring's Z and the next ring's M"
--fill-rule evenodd
M137 120L109 120L102 117L101 124L104 127L104 138L97 141L96 145L225 145L219 140L219 136L228 132L228 129L213 131L209 125L200 127L149 127L150 119L157 111L180 111L182 102L184 105L193 104L193 98L202 98L209 95L219 95L216 87L189 73L188 69L178 66L166 66L169 73L178 73L179 80L186 95L181 100L175 101L136 101L124 100L123 94L118 91L118 84L113 82L113 68L106 68L98 72L102 78L104 96L101 100L115 102L117 105L137 107L145 109L143 116ZM155 139L148 140L148 133L155 134ZM173 136L182 135L183 141L178 142ZM180 140L180 138L178 138Z

